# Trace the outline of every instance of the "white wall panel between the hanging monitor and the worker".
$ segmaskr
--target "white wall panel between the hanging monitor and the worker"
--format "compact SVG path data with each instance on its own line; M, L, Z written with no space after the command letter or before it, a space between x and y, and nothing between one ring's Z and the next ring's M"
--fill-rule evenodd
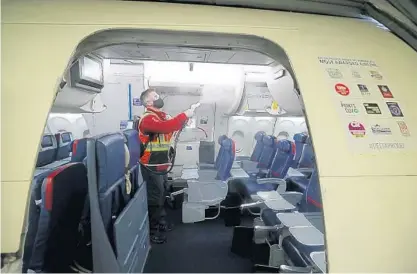
M141 115L143 107L133 105L144 90L142 64L111 64L109 59L103 62L104 88L100 93L107 109L101 113L83 114L92 135L120 130L120 122L129 120L129 104L132 114ZM129 101L129 84L131 101Z

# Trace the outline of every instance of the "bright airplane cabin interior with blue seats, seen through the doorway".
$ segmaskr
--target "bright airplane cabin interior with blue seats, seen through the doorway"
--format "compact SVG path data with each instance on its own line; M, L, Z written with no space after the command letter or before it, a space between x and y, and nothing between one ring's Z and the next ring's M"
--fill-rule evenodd
M21 270L97 271L92 254L107 248L124 272L326 272L312 141L286 64L285 55L138 43L70 62L40 142ZM175 229L161 245L149 241L139 160L148 88L171 117L200 103L171 143L166 207ZM91 231L100 229L108 246L96 247Z

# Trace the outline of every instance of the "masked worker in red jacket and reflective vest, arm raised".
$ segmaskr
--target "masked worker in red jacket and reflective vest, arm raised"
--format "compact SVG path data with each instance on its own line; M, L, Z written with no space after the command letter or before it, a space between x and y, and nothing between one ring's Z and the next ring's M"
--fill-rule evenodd
M146 108L138 123L139 138L142 144L140 158L143 180L148 194L148 212L150 235L153 243L164 243L163 232L172 230L173 226L165 220L165 180L170 168L170 140L174 132L183 128L188 119L194 115L195 107L168 118L161 108L164 101L154 89L142 92L140 100ZM171 149L172 150L172 149Z

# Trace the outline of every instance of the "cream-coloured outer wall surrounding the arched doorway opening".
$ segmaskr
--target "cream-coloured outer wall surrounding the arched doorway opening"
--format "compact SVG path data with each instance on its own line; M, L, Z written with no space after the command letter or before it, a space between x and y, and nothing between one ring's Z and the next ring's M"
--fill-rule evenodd
M2 113L7 114L2 120L7 159L1 166L1 206L7 208L1 216L2 252L19 246L40 136L71 54L99 31L155 28L253 34L281 45L297 75L317 154L329 271L417 269L416 150L353 153L333 82L318 62L320 56L376 61L395 96L408 105L409 139L415 141L417 110L410 104L417 95L410 87L417 85L417 55L394 35L359 20L264 10L125 1L86 1L82 9L65 1L8 5L2 14ZM30 89L16 85L22 75ZM24 127L16 126L25 120Z

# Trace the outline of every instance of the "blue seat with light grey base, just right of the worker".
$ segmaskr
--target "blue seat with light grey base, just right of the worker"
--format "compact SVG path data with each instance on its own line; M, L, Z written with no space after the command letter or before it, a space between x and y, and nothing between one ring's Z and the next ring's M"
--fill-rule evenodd
M223 152L219 159L219 169L215 180L189 180L184 189L185 198L182 205L183 223L195 223L220 215L220 203L226 198L230 171L235 158L235 144L230 138L222 141ZM218 214L213 218L205 217L209 206L217 206Z

